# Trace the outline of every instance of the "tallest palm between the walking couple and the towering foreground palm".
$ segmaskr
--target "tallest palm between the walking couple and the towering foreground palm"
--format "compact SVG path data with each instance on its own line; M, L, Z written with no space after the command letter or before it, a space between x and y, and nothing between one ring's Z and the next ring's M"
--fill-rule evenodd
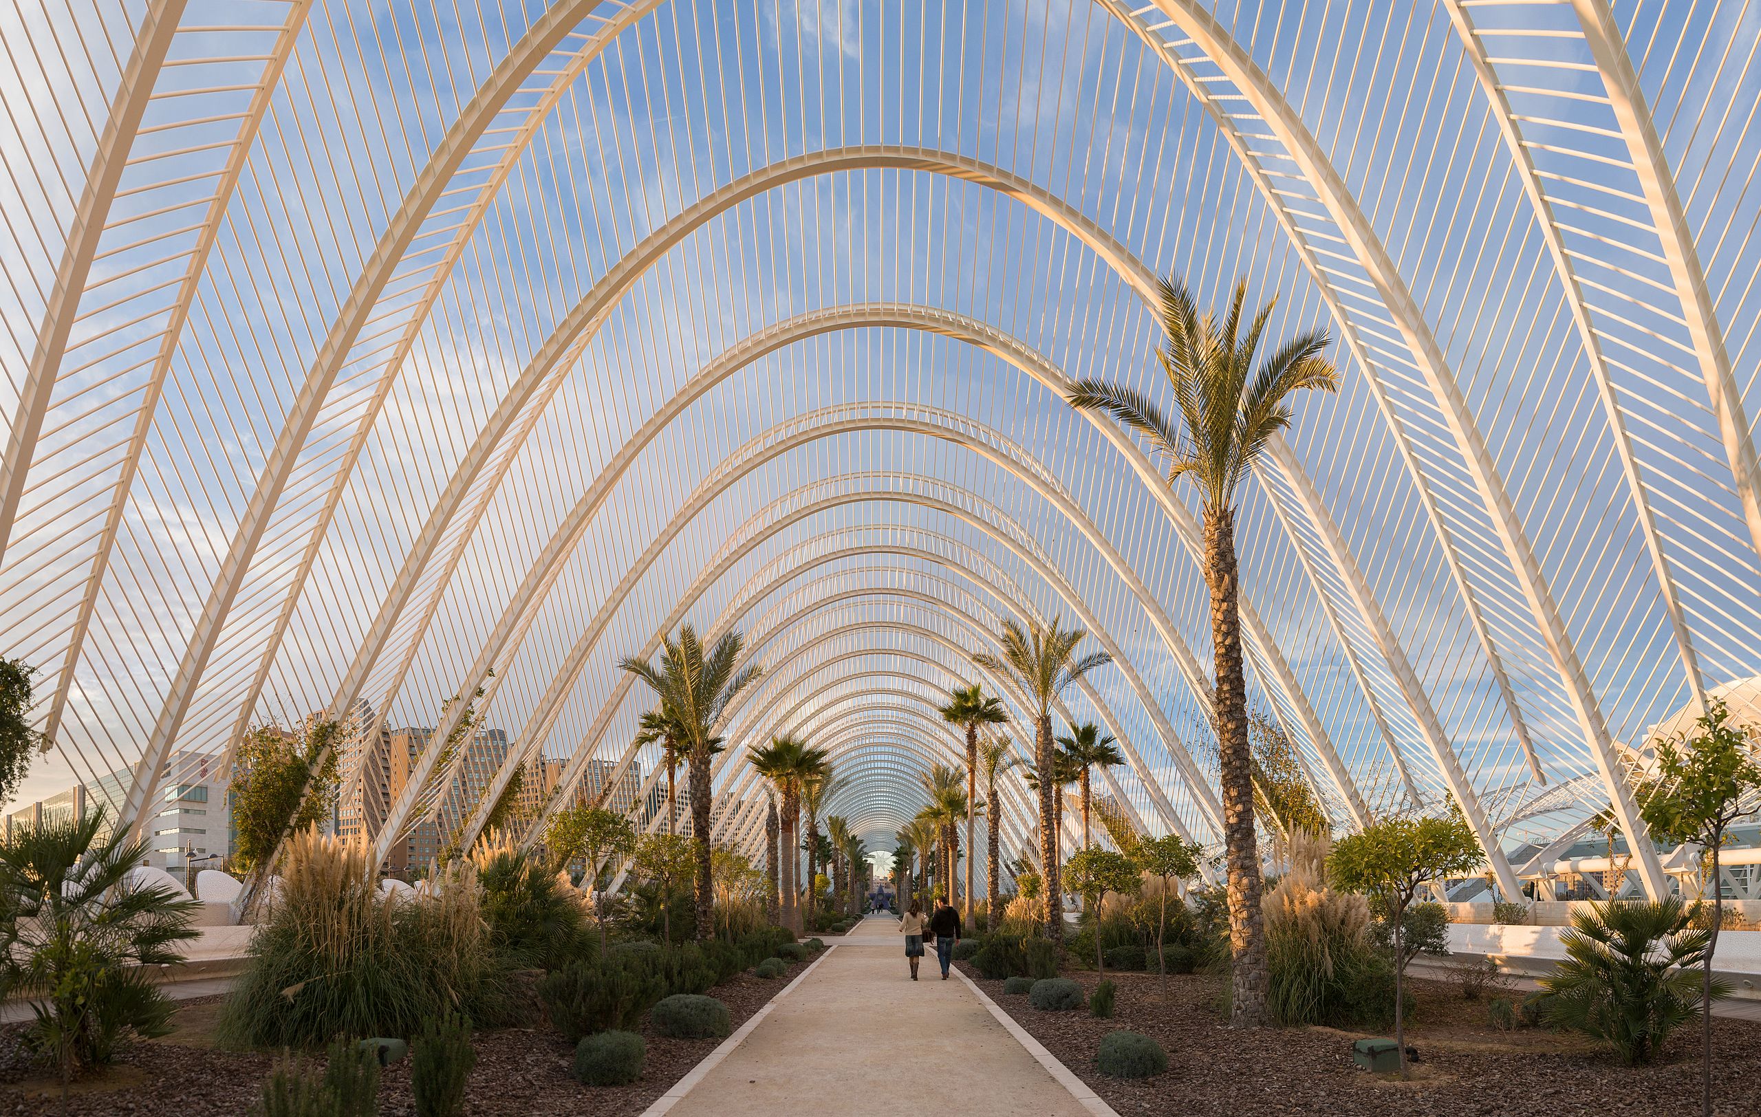
M1083 675L1113 662L1106 652L1088 652L1076 655L1076 645L1083 641L1081 629L1062 627L1062 618L1053 617L1050 625L1030 620L1021 629L1013 618L1002 622L1002 655L981 652L972 661L986 671L1009 675L1014 684L1034 701L1035 749L1034 756L1041 772L1051 772L1051 703L1060 698ZM1046 860L1046 934L1053 941L1064 941L1064 897L1058 895L1058 832L1053 830L1057 807L1057 789L1051 782L1039 788L1039 854Z

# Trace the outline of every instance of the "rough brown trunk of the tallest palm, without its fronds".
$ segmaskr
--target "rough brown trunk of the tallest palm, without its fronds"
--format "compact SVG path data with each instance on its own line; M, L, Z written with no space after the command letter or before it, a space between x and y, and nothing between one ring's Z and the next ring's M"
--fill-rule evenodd
M1229 1022L1234 1027L1263 1027L1266 927L1261 911L1259 844L1254 837L1247 682L1242 675L1242 583L1234 553L1234 509L1227 506L1205 506L1205 581L1210 585L1212 647L1217 654L1217 754L1229 863L1229 948L1234 955Z

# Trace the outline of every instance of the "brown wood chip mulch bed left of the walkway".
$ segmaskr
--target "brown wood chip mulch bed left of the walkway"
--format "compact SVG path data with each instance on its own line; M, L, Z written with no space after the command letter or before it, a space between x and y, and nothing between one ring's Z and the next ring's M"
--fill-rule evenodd
M743 973L711 988L710 995L727 1004L738 1029L812 962L814 957L789 964L784 976L773 980ZM211 1047L208 1034L220 1001L201 997L180 1002L176 1032L129 1045L107 1071L76 1082L69 1117L222 1117L252 1112L275 1061L257 1052ZM641 1113L720 1043L667 1039L657 1036L646 1018L641 1034L648 1041L648 1059L639 1082L586 1087L574 1080L574 1047L549 1027L479 1032L465 1112L474 1117ZM19 1048L18 1038L18 1025L0 1031L0 1115L60 1113L58 1082ZM382 1117L416 1113L409 1059L380 1073L379 1112Z

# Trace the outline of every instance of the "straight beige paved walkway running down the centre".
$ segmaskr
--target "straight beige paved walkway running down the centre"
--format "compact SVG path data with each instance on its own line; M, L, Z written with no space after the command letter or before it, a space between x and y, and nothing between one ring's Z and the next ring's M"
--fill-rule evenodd
M1000 1024L958 976L942 981L935 955L921 980L905 969L898 920L870 916L771 1001L726 1059L682 1082L650 1113L738 1117L803 1113L877 1101L912 1087L949 1091L967 1117L1090 1117L1085 1105ZM1069 1073L1065 1071L1065 1076ZM1087 1087L1076 1084L1085 1096ZM671 1106L666 1108L671 1101ZM946 1108L923 1098L926 1108Z

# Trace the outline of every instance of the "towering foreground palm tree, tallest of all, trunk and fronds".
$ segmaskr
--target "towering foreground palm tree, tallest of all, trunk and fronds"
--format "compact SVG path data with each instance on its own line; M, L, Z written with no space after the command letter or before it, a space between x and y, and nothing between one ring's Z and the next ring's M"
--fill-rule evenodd
M1259 907L1259 849L1254 840L1254 777L1247 740L1247 682L1242 675L1240 569L1234 550L1234 497L1266 442L1291 425L1289 396L1301 389L1337 391L1338 372L1323 351L1324 329L1301 333L1264 359L1259 344L1275 301L1242 331L1247 280L1238 280L1227 317L1199 315L1176 278L1162 280L1162 331L1157 349L1173 388L1180 423L1148 396L1124 384L1079 381L1074 407L1102 411L1145 435L1168 456L1168 481L1192 479L1205 497L1205 581L1212 597L1212 648L1217 659L1217 752L1220 759L1224 844L1229 858L1229 939L1234 948L1233 1024L1266 1022L1266 932Z

